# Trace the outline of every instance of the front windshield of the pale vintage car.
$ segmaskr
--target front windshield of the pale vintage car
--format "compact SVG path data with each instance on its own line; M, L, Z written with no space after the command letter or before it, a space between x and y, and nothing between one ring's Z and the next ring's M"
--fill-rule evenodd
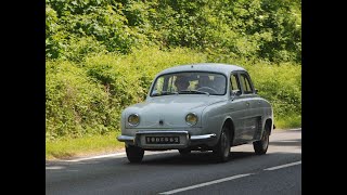
M151 96L172 94L223 95L227 89L226 76L216 73L175 73L159 76Z

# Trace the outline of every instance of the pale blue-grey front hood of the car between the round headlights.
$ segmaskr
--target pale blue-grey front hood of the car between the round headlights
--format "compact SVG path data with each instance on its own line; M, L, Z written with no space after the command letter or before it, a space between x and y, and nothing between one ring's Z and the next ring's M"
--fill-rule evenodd
M185 123L185 116L189 113L195 113L198 117L198 122L195 127L200 127L202 110L206 106L223 100L222 96L204 94L156 96L146 102L128 107L125 114L126 118L128 118L130 114L138 114L140 116L140 123L136 128L163 129L189 127ZM160 120L163 125L159 125ZM129 128L128 123L126 123L126 126Z

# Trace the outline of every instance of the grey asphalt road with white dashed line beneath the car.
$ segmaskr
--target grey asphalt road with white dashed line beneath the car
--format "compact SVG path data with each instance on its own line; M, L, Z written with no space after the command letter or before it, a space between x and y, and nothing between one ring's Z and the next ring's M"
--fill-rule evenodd
M266 155L253 145L231 148L230 161L210 152L145 152L139 165L124 153L48 161L46 194L301 194L301 130L274 130Z

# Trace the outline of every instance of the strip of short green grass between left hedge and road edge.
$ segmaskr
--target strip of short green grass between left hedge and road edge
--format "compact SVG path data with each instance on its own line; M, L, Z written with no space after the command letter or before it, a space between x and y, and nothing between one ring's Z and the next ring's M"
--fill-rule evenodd
M115 153L124 148L124 143L116 140L118 134L119 132L111 132L106 135L47 141L46 159L68 159L76 156Z

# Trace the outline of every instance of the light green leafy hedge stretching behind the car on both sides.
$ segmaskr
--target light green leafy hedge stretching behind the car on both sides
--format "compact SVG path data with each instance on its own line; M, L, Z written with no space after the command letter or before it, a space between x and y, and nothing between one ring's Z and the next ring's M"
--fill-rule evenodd
M144 100L154 76L170 66L218 62L189 49L143 48L130 54L90 55L85 61L47 62L47 139L78 138L119 130L126 106ZM220 60L249 70L259 94L274 106L275 117L300 115L300 66Z

